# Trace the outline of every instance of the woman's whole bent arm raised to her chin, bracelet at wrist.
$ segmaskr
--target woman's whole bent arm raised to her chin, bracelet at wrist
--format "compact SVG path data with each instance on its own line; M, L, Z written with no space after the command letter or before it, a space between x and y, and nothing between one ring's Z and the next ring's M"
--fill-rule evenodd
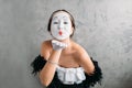
M52 52L50 53L50 47L53 46L53 50L51 50ZM50 43L43 43L42 44L42 48L41 48L41 55L43 57L46 58L46 64L43 67L43 69L40 72L38 76L40 76L40 80L44 86L48 86L51 84L51 81L53 80L53 77L55 75L55 70L56 70L56 64L59 61L59 56L62 53L62 50L64 47L62 47L62 45L59 46L58 42L57 45L52 43L52 45L50 46ZM48 61L56 63L56 64L52 64Z

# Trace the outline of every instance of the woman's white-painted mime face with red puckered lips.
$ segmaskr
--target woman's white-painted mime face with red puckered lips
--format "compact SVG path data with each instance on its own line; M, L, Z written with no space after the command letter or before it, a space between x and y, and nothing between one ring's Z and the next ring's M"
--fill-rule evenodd
M51 33L57 40L65 40L72 34L72 21L66 12L54 14L51 23Z

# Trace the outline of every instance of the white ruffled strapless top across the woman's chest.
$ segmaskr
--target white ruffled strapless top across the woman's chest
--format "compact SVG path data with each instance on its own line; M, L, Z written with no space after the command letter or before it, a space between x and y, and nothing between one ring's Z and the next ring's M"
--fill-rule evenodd
M57 66L58 79L65 85L80 84L86 79L85 72L82 67L77 68L65 68Z

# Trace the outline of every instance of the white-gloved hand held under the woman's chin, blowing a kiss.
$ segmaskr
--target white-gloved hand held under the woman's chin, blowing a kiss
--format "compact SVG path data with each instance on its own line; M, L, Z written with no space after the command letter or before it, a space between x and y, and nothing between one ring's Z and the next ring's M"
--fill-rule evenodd
M56 40L52 40L52 46L53 46L53 50L58 51L67 47L67 44Z

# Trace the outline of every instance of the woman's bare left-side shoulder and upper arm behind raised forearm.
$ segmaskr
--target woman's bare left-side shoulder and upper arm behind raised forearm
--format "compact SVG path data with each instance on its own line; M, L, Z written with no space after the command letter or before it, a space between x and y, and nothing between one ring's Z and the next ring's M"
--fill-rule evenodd
M52 50L51 40L44 41L41 45L41 56L47 59L50 57L51 50Z

